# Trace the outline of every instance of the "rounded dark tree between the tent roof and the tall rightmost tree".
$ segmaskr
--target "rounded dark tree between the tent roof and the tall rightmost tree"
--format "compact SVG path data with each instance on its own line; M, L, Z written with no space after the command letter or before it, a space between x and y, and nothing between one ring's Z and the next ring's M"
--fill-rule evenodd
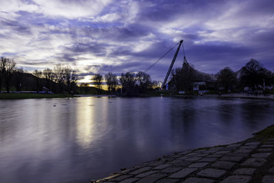
M229 67L225 67L225 69L222 69L217 74L217 84L224 87L225 90L232 89L236 82L236 75Z

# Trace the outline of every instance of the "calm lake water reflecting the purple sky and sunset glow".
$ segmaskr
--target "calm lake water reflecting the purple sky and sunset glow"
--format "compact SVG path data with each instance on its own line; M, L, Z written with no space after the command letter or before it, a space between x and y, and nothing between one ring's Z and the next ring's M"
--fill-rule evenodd
M92 98L0 101L0 182L88 182L274 122L274 101Z

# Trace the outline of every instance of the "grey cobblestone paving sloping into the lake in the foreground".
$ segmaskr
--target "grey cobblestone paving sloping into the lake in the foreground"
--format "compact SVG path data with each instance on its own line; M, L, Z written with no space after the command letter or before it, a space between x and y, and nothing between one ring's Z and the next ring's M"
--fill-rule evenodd
M274 138L190 149L91 182L274 183Z

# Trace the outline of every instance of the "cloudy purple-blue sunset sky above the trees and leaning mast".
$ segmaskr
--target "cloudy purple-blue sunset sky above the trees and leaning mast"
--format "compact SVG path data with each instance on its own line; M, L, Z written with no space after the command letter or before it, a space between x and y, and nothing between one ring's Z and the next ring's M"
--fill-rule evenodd
M17 67L64 64L95 73L145 71L179 40L195 69L238 71L251 58L273 71L273 0L0 0L0 56ZM175 49L148 73L163 81ZM181 67L180 51L174 67Z

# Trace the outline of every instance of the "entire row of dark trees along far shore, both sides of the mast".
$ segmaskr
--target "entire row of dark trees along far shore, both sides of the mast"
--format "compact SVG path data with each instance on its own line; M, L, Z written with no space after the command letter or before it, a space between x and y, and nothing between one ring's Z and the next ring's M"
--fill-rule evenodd
M199 90L231 90L237 92L248 87L249 90L271 90L274 86L274 73L265 69L260 62L251 59L240 71L234 72L229 67L221 69L216 75L201 73L184 63L181 68L173 69L169 90L193 90L195 82L205 82ZM102 90L105 85L109 94L114 95L138 95L146 94L160 89L158 82L151 81L149 74L145 72L127 72L116 75L109 72L104 76L100 73L92 76L91 80L97 88L97 94L106 94ZM11 86L16 91L36 90L47 93L82 93L82 88L88 88L88 84L77 86L76 71L71 66L56 64L53 69L46 68L42 71L34 70L32 73L17 68L14 60L1 57L0 60L0 91L3 88L10 93ZM78 90L79 89L79 90ZM87 93L87 92L86 92Z

